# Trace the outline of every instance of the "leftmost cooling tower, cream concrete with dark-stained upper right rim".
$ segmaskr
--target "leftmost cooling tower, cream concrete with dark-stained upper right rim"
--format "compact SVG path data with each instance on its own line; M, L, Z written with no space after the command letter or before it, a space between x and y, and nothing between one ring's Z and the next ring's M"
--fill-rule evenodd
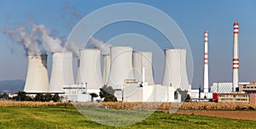
M28 68L24 92L47 93L48 90L47 54L28 54Z

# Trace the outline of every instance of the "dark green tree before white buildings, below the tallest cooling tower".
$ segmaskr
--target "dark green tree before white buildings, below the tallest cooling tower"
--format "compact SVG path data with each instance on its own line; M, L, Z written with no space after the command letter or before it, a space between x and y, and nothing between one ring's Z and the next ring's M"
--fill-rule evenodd
M102 88L100 88L100 91L100 97L104 98L104 102L117 102L117 98L113 95L113 87L107 87L106 85L104 85Z

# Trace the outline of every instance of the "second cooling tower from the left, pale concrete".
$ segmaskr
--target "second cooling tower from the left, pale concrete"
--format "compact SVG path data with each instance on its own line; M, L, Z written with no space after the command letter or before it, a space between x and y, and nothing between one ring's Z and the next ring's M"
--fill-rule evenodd
M71 84L74 84L73 54L52 53L52 70L49 81L49 93L63 93L63 86Z

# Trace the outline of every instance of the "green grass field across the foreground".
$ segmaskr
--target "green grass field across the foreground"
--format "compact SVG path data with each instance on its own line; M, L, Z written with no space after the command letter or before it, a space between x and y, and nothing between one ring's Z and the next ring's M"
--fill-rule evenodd
M98 110L101 114L101 110ZM90 112L90 111L89 111ZM88 113L89 113L88 112ZM155 112L131 126L104 126L73 107L0 107L0 128L256 128L256 121ZM108 115L108 117L113 117ZM101 118L99 118L101 119ZM106 118L104 118L106 119ZM108 118L107 118L108 119ZM124 119L125 120L125 119ZM102 120L98 120L102 121ZM126 120L125 120L126 121Z

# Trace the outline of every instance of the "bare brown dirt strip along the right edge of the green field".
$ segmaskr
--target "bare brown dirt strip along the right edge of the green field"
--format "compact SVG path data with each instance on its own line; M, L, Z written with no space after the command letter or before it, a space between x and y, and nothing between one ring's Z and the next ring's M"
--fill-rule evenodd
M178 110L176 114L208 115L208 116L256 121L256 111Z

